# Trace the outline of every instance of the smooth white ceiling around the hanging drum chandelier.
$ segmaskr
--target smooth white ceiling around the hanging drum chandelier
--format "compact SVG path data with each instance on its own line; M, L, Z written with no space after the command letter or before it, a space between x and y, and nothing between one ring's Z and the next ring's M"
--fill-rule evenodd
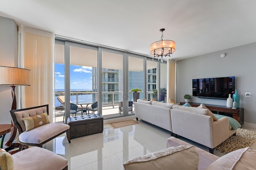
M165 28L173 60L256 42L256 0L0 0L0 16L145 55Z

